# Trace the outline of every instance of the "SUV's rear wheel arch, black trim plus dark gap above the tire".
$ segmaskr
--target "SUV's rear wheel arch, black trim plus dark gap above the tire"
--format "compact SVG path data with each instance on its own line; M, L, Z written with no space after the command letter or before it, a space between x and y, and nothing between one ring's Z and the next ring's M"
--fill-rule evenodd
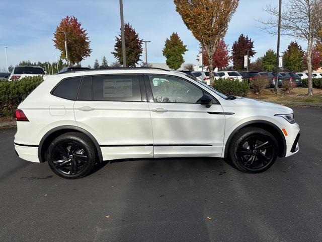
M47 149L49 143L59 135L65 134L67 132L78 132L89 137L92 140L93 144L95 145L99 160L103 161L102 150L100 148L99 143L97 142L97 140L94 138L93 135L91 135L88 131L82 128L71 126L71 125L64 125L64 126L55 127L54 129L48 131L40 140L40 143L38 146L38 158L41 163L46 161L45 150Z

